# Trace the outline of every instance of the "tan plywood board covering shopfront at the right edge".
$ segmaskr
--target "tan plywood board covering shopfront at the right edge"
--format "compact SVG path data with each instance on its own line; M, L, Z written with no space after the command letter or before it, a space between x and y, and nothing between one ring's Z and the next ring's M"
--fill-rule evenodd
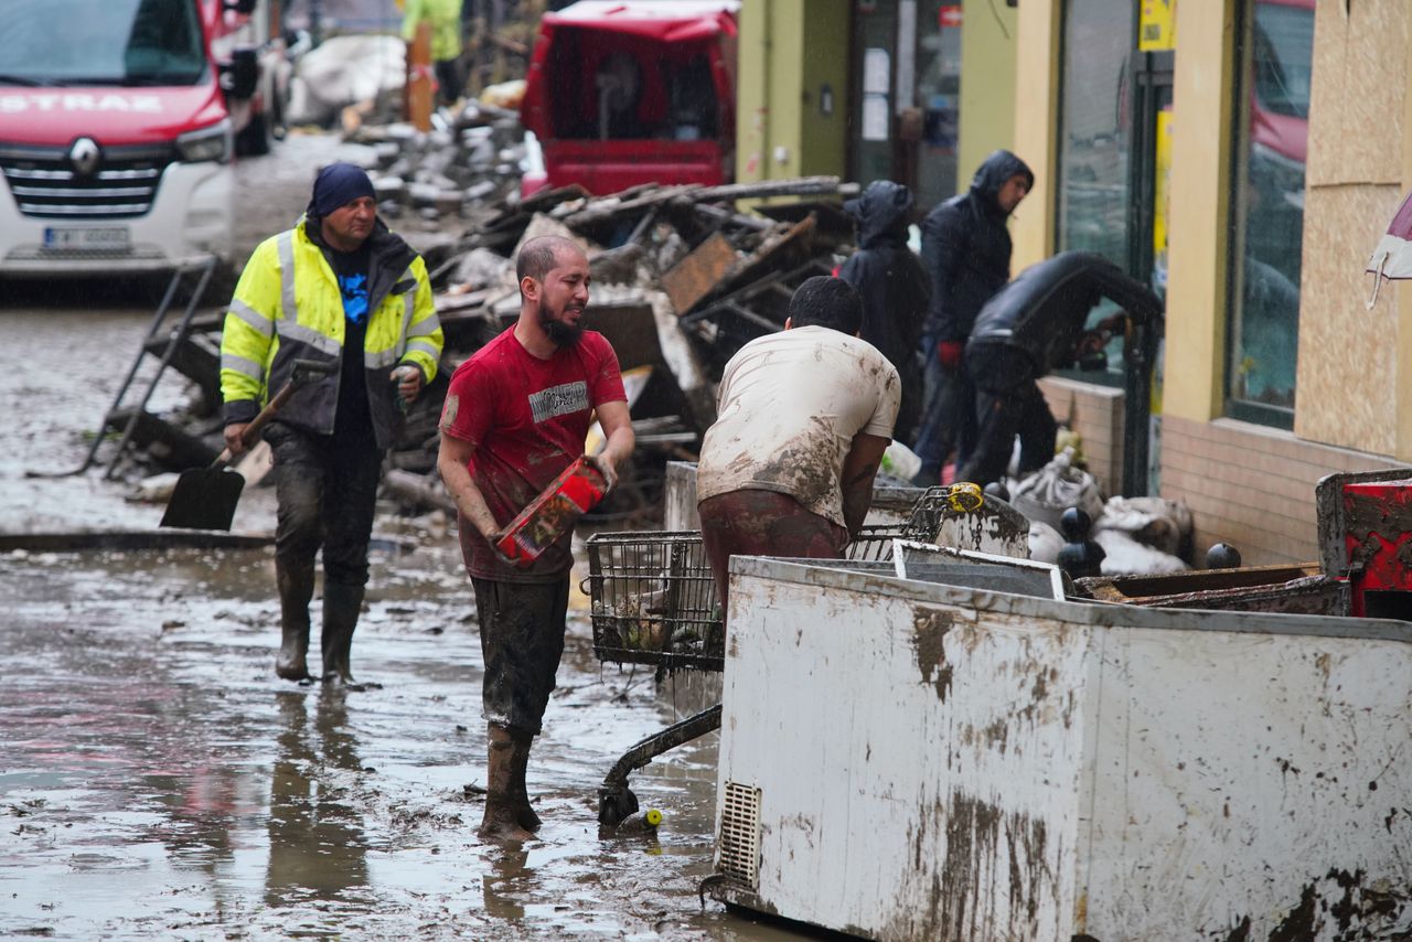
M1406 179L1409 30L1406 0L1315 11L1295 403L1299 438L1401 458L1399 291L1365 311L1363 268Z

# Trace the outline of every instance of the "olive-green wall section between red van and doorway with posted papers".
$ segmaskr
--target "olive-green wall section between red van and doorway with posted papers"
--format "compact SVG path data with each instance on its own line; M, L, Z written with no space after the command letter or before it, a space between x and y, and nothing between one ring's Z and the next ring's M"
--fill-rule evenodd
M847 24L849 0L747 0L741 4L737 181L843 174ZM819 110L825 85L833 92L832 114Z

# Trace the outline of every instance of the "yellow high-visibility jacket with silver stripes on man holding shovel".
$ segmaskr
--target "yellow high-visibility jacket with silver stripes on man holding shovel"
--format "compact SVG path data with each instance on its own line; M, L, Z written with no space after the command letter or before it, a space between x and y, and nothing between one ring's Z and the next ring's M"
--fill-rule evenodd
M220 395L226 422L249 422L288 380L295 360L335 369L305 383L278 419L333 434L346 319L343 294L306 220L256 247L236 285L220 338ZM378 448L397 436L393 370L412 364L436 377L442 329L426 264L378 220L369 236L369 323L363 369Z

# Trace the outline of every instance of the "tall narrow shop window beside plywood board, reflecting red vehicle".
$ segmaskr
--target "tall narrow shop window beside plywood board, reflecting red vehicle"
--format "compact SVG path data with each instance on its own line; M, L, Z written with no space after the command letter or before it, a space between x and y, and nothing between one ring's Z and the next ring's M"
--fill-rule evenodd
M1231 201L1227 412L1293 427L1315 0L1254 0Z

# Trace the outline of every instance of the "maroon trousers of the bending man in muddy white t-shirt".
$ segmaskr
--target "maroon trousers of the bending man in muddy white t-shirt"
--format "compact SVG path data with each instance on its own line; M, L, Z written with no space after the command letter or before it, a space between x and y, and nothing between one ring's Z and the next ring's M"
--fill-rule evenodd
M789 494L733 490L700 501L702 544L716 578L722 610L730 600L731 556L839 559L849 531L810 513Z

